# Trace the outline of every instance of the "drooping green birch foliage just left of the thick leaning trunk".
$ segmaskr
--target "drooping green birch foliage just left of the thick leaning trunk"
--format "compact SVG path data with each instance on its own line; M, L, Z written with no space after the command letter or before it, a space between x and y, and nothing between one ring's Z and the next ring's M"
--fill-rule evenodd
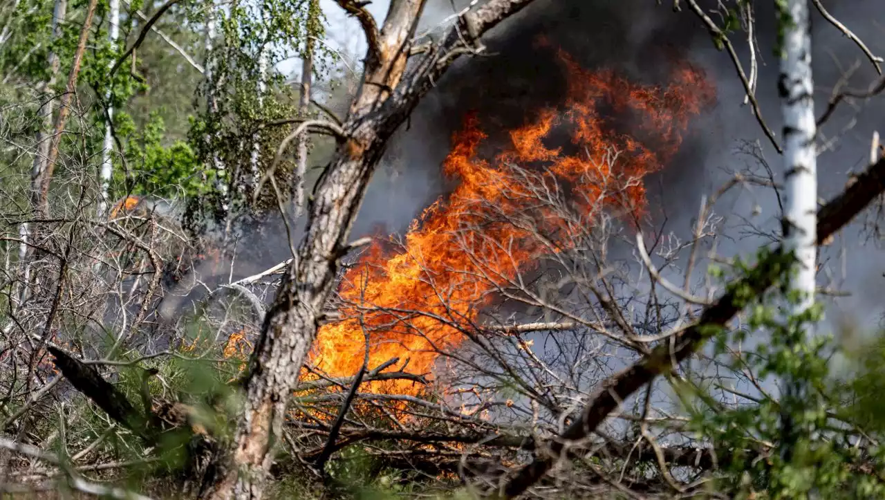
M325 36L324 24L316 0L235 4L221 20L220 36L206 61L212 78L198 90L205 105L193 121L189 142L197 158L220 170L215 175L233 196L229 201L234 212L246 210L256 178L266 172L277 145L290 131L273 123L299 114L296 88L267 68L310 51L314 73L323 74L327 61L335 58L315 42ZM284 158L275 171L283 192L289 191L293 168L288 160ZM275 211L277 206L275 196L266 192L248 210Z

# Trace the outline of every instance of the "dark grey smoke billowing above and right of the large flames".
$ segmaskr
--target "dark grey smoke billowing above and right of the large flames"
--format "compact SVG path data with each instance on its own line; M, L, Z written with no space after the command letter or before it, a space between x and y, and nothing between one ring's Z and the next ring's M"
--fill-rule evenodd
M448 5L448 0L443 4ZM704 8L714 6L712 2L701 4ZM768 127L780 137L773 2L756 4L756 37L761 47L757 97ZM878 42L885 33L885 15L880 13L878 0L824 4L864 38L874 53L885 53L885 44ZM466 113L475 112L490 141L500 145L506 142L509 130L530 122L542 109L563 104L566 76L550 46L565 50L586 69L608 68L647 84L666 84L671 61L682 58L703 69L715 84L716 102L694 120L678 155L646 180L654 224L688 235L701 196L744 166L758 165L757 160L738 153L744 143L757 142L772 166L775 181L782 181L781 159L762 134L750 107L742 104L743 85L727 53L716 49L711 35L686 6L681 12L673 12L671 6L672 2L658 5L652 0L538 0L504 22L484 40L484 53L463 58L452 67L398 131L366 194L354 236L404 231L427 204L445 196L451 181L441 174L443 158ZM451 9L431 4L428 12L442 17ZM816 113L820 116L832 89L852 65L859 64L848 81L851 88L866 88L876 73L857 46L818 12L812 12L812 35ZM539 43L541 37L548 46ZM749 73L750 52L744 35L735 34L731 39ZM871 101L857 109L844 106L822 128L823 140L837 136L833 147L819 157L822 198L841 191L847 173L864 167L872 131L879 128L885 132L883 104ZM751 215L754 209L758 215ZM719 250L726 255L746 255L766 242L737 227L748 221L768 229L778 224L777 198L770 189L725 196L717 210L729 216L727 225L735 227L732 237L720 242ZM885 279L881 278L885 265L873 264L882 260L881 254L875 245L859 244L862 237L857 226L846 230L841 242L824 251L822 258L838 268L834 273L839 276L830 279L860 290L841 304L852 311L869 312L878 307L871 297Z

